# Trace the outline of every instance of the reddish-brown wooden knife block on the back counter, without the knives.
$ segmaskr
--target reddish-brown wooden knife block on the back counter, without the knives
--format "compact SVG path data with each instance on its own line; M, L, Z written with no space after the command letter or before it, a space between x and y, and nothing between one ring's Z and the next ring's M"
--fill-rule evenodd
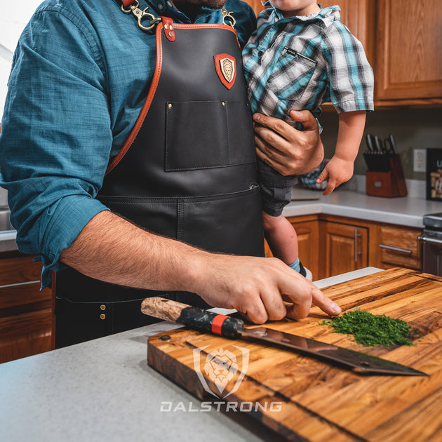
M399 155L388 157L390 170L377 172L367 170L366 172L366 194L370 196L384 196L394 198L396 196L407 196L407 185L403 175L401 158Z

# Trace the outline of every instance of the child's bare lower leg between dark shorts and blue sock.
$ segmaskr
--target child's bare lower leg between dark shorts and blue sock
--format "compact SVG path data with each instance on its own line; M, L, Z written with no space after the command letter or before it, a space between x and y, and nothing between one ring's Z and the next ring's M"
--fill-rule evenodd
M262 212L264 235L275 257L287 265L297 260L297 234L288 219L283 215L272 216Z

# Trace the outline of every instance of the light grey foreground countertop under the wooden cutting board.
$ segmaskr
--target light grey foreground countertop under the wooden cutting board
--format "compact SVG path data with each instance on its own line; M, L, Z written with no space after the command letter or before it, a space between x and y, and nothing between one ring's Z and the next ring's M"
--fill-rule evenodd
M379 271L367 267L315 284ZM218 412L215 402L201 410L200 401L147 366L147 337L173 328L156 323L0 364L2 440L278 440L247 413Z

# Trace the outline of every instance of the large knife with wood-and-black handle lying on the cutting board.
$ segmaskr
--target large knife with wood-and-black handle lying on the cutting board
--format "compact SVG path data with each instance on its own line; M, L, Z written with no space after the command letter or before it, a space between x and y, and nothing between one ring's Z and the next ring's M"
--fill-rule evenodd
M341 363L359 373L427 376L426 373L402 366L399 363L360 353L359 351L337 347L333 344L326 344L308 337L292 335L262 326L245 328L241 319L208 312L208 310L191 307L162 297L146 298L141 304L141 311L155 318L178 322L192 329L229 337L230 339L252 337L255 340L290 347L317 358Z

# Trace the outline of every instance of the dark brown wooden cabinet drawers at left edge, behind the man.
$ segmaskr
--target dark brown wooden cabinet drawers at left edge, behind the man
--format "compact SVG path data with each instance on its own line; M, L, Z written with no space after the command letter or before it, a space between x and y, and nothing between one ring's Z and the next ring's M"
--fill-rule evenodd
M0 363L51 350L51 289L40 290L41 263L0 254Z

